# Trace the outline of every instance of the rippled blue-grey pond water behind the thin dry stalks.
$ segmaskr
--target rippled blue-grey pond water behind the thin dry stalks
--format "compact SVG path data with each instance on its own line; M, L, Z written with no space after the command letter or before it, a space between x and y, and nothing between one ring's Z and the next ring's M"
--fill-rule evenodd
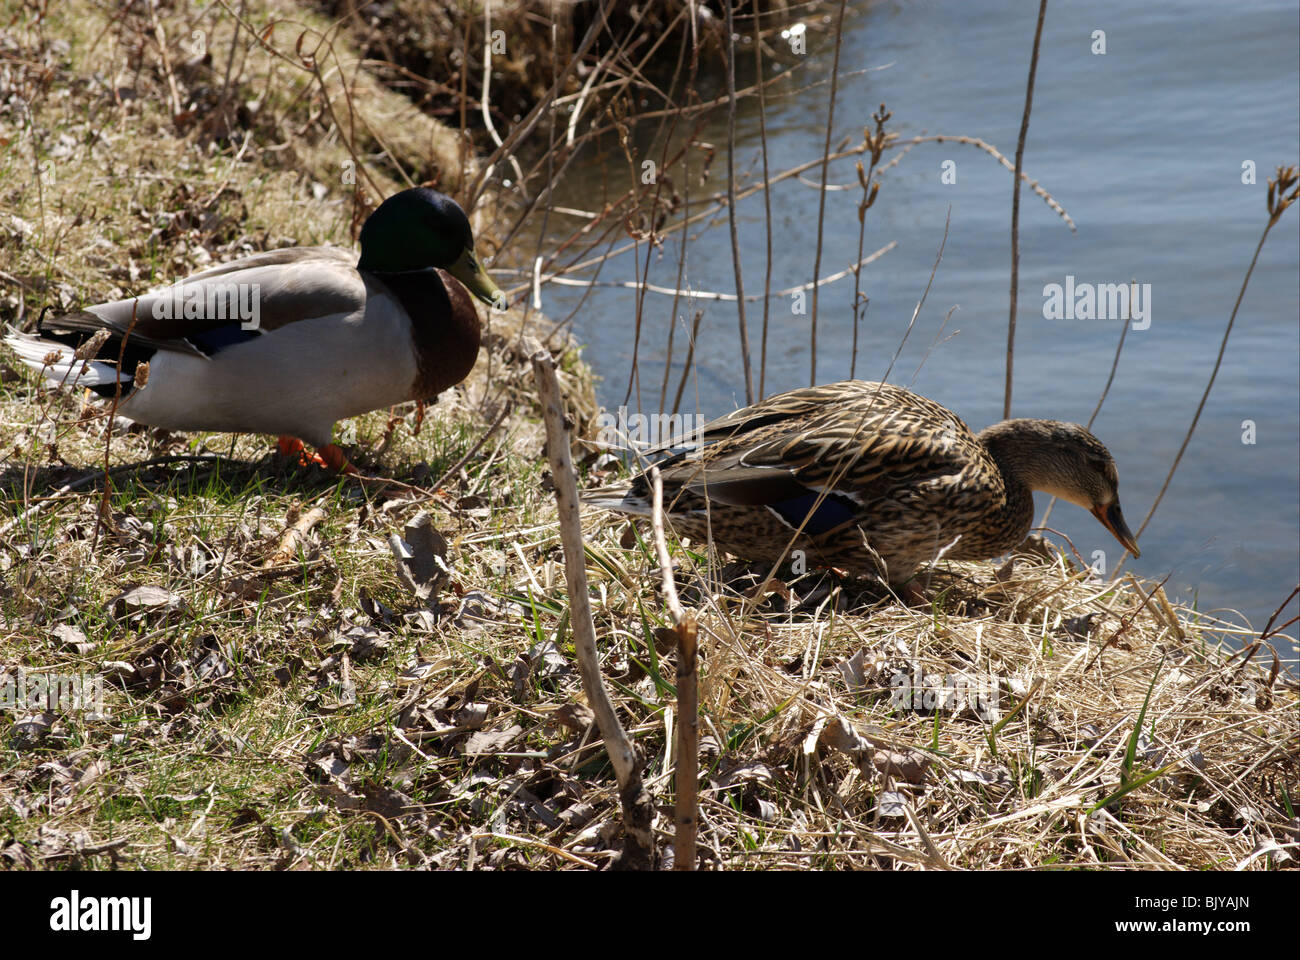
M861 139L884 100L890 130L902 138L963 134L982 138L1014 160L1026 73L1034 36L1034 4L881 3L850 10L835 140ZM748 27L745 27L748 30ZM1095 30L1106 52L1092 52ZM1148 329L1130 329L1114 386L1093 429L1119 467L1121 500L1136 531L1191 423L1214 363L1227 317L1265 225L1265 178L1277 164L1300 160L1300 13L1294 3L1061 3L1048 8L1024 153L1024 169L1078 224L1071 233L1028 189L1020 195L1020 308L1015 345L1013 415L1086 421L1105 384L1121 320L1045 320L1043 289L1079 282L1150 285ZM742 48L742 64L751 49ZM774 95L829 75L832 39L809 33L806 64ZM746 78L742 77L742 82ZM702 88L712 95L716 87ZM768 104L772 172L820 155L827 90L775 98ZM725 189L725 113L699 133L718 146L711 176L698 180L696 202ZM638 142L637 157L659 148ZM736 167L751 182L759 165L757 101L742 103ZM897 151L888 151L889 160ZM697 151L698 155L698 151ZM942 164L957 182L941 183ZM1242 182L1243 163L1256 165L1254 185ZM832 164L831 183L855 185L853 160ZM681 189L682 176L675 183ZM819 169L806 177L815 182ZM555 203L597 209L628 186L616 150L576 164ZM859 191L827 195L822 274L844 269L858 245ZM1011 176L987 153L956 143L920 144L881 177L868 212L866 250L898 246L863 271L870 307L859 330L857 375L880 379L924 290L944 234L942 263L890 380L945 403L975 429L1001 419L1010 271ZM818 193L786 181L772 190L776 250L772 289L807 282L816 243ZM762 195L738 206L746 294L760 293L764 271ZM581 220L552 213L551 239ZM1300 580L1300 297L1297 225L1288 211L1264 247L1238 315L1214 389L1174 481L1141 536L1143 555L1126 568L1152 579L1201 610L1234 609L1257 628ZM623 234L627 239L627 234ZM673 286L680 234L651 258L649 280ZM526 245L525 245L526 246ZM632 280L637 263L624 255L601 280ZM588 273L586 276L592 276ZM692 228L684 285L734 293L731 243L723 213ZM573 311L584 290L547 285L551 317ZM601 399L624 399L633 355L636 294L597 287L575 315L586 359L604 377ZM822 287L816 379L849 376L852 276ZM809 297L811 302L811 297ZM957 307L931 349L940 324ZM647 295L640 354L641 390L630 407L659 410L667 324L672 299ZM682 300L686 323L703 311L697 375L684 408L714 416L745 403L736 307ZM758 380L762 304L746 307ZM685 356L679 327L673 388ZM772 300L766 392L810 379L809 316L790 300ZM698 389L698 407L697 407ZM671 406L670 389L670 406ZM1256 442L1242 442L1243 421ZM1040 494L1041 497L1041 494ZM1045 498L1040 500L1041 516ZM1086 511L1061 503L1050 526L1084 557L1119 548ZM1286 619L1295 614L1292 602ZM1223 614L1228 619L1239 619ZM1295 632L1288 631L1288 632ZM1286 652L1295 657L1294 648Z

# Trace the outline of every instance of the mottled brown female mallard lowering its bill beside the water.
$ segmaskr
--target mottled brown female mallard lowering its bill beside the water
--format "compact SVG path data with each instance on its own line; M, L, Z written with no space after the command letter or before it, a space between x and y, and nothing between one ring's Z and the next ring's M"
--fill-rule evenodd
M810 563L904 584L940 555L985 559L1017 546L1034 490L1089 510L1138 555L1110 453L1087 429L1004 420L971 433L950 410L889 384L846 380L768 397L705 424L658 464L673 529L766 563ZM651 481L584 494L651 511Z

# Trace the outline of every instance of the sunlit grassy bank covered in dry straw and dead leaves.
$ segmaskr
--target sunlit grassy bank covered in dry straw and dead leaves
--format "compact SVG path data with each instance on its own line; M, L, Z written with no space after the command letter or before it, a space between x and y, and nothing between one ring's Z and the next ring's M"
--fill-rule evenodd
M473 181L471 146L395 88L400 70L358 61L378 56L360 34L316 5L246 9L237 33L183 4L155 22L70 0L4 29L0 319L346 245L408 180ZM0 367L0 666L104 689L103 712L0 713L0 864L610 864L618 788L571 657L525 325L549 329L495 316L474 373L428 410L341 427L395 483L276 462L260 437L127 427ZM590 436L592 375L550 346ZM589 485L620 470L589 444L577 459ZM419 545L421 514L450 567L432 593L390 545ZM667 842L656 565L644 529L585 529L606 682ZM1031 545L942 565L915 609L671 549L701 617L702 866L1295 868L1294 678L1154 584Z

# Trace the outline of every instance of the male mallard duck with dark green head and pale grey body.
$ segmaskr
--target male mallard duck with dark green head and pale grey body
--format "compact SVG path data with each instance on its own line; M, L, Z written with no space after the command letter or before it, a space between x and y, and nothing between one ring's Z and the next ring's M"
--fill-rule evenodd
M434 190L386 199L360 243L360 260L337 247L256 254L5 343L49 380L121 395L117 410L133 420L278 433L281 450L307 441L328 466L351 470L334 423L464 380L480 340L465 289L504 306L464 211Z

